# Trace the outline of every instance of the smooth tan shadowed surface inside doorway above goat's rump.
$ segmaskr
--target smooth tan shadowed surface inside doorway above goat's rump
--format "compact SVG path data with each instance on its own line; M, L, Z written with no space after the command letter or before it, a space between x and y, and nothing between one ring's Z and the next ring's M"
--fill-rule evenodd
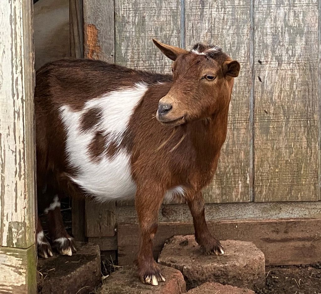
M69 1L38 0L33 11L35 69L69 57Z

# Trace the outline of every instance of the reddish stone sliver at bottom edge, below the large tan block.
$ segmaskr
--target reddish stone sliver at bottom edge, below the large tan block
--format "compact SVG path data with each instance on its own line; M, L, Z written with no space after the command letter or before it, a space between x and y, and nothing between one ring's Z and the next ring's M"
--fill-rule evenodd
M255 292L216 282L206 282L201 286L189 290L187 294L255 294Z

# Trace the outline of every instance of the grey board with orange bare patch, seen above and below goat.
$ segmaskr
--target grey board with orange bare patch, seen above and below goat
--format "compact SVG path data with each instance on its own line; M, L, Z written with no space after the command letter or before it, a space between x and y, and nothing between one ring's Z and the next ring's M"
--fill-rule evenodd
M83 26L84 58L114 63L114 2L83 0ZM86 199L85 210L86 237L114 236L114 201L101 204Z

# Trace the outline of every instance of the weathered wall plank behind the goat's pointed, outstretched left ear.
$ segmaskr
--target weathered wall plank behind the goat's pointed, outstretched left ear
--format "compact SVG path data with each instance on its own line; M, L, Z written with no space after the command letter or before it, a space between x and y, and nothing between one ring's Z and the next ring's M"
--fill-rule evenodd
M170 72L171 60L152 38L180 46L180 1L115 0L116 63L134 69Z

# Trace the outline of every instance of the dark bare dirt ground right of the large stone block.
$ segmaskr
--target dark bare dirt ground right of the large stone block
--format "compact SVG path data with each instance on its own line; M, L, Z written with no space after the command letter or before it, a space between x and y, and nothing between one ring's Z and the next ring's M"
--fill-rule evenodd
M266 266L266 286L257 294L321 294L321 263Z

